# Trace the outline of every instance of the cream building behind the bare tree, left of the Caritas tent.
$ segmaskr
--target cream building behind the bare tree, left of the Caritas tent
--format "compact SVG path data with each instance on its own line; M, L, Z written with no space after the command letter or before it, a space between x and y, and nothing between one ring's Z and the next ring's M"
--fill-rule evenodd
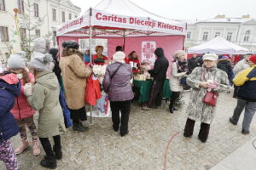
M22 20L22 14L28 13L28 1L32 4L32 19L44 18L44 24L32 34L38 37L53 35L51 45L54 47L56 47L55 27L79 16L81 12L81 8L74 6L70 0L0 0L0 60L9 55L10 51L20 50L20 38L14 33L16 31L14 9L19 9L18 20ZM26 30L20 30L20 33L22 32L27 34ZM7 48L9 44L13 45L12 50Z

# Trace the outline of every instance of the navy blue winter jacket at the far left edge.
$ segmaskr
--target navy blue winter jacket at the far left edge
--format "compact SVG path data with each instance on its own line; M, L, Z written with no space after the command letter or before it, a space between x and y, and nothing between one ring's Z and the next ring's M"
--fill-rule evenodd
M15 97L20 95L20 82L9 84L0 77L0 143L19 133L19 128L10 110L15 105Z

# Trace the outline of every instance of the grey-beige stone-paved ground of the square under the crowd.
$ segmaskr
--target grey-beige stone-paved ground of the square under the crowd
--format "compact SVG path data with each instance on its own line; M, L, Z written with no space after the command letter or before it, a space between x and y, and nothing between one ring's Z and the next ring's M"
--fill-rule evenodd
M189 93L184 96L186 103ZM241 120L237 126L230 124L229 117L236 106L231 94L220 95L218 111L212 123L209 139L202 144L197 139L200 123L195 124L193 138L183 138L186 121L185 109L170 114L167 103L155 111L142 111L137 104L132 105L130 133L120 137L112 129L111 118L94 118L87 133L73 133L71 129L61 136L64 157L58 162L60 170L162 170L166 144L175 137L167 150L167 168L204 170L218 164L242 144L247 143L256 133L253 120L251 134L241 134ZM14 147L19 144L19 136L13 139ZM21 170L44 169L39 161L44 157L32 156L32 150L18 156ZM4 169L0 162L0 169ZM243 169L247 170L247 169Z

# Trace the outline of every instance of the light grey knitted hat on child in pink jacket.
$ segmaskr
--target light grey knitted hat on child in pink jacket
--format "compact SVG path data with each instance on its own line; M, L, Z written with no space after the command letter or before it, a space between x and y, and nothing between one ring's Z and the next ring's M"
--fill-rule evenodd
M11 54L7 61L9 69L22 69L25 66L25 61L20 54Z

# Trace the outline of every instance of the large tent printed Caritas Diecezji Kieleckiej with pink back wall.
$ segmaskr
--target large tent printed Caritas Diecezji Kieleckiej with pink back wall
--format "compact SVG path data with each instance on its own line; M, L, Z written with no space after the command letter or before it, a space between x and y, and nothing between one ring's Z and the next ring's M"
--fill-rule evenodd
M185 23L152 14L129 0L102 0L95 8L60 26L57 42L72 39L79 42L82 51L89 47L90 61L96 45L104 47L103 54L108 59L116 46L123 46L125 54L137 51L138 58L148 59L153 67L155 48L164 48L166 58L172 62L172 54L183 48L185 33ZM171 66L167 75L170 69Z

